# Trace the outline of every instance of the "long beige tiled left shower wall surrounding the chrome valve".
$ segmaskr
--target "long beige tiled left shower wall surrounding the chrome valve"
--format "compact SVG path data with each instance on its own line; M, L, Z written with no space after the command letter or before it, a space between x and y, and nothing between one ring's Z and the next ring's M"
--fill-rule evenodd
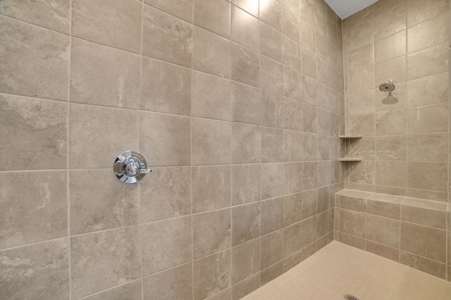
M333 239L324 1L4 0L0 37L0 299L239 299Z

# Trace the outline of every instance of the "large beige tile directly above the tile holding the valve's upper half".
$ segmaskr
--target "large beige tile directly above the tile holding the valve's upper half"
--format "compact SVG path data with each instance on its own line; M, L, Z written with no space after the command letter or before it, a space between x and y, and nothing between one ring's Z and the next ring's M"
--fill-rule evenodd
M70 101L140 108L140 56L72 39Z

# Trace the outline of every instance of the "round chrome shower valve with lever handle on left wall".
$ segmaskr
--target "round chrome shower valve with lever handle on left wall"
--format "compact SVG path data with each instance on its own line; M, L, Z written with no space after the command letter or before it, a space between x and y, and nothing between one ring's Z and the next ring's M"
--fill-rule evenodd
M125 183L135 183L152 170L147 168L144 156L136 151L126 151L113 163L113 171L118 180Z

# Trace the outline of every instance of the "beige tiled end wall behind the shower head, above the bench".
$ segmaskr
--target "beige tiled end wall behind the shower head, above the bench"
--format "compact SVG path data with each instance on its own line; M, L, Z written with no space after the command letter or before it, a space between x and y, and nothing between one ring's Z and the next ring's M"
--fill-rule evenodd
M350 189L448 199L448 0L380 0L343 20ZM390 95L378 87L394 80Z

